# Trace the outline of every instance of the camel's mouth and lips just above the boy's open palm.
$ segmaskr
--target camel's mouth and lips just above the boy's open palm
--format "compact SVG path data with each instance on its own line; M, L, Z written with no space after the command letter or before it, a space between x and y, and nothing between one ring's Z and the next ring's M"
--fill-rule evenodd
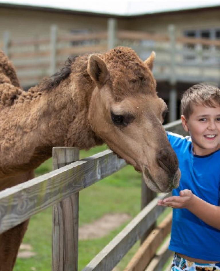
M177 170L173 178L169 178L167 185L164 187L160 187L160 185L156 182L156 180L154 180L154 178L150 174L148 167L146 166L142 167L142 172L143 172L144 181L146 185L148 186L148 188L150 188L154 192L168 193L179 186L179 179L181 175L179 169Z

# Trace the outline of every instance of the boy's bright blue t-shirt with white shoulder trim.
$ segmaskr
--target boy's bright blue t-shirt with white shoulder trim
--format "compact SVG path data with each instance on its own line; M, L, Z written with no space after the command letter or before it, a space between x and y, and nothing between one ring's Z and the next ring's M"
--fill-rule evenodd
M220 150L206 156L192 152L190 137L167 132L168 140L179 160L180 185L173 190L179 196L183 189L213 205L219 206ZM169 249L188 257L220 262L220 230L193 215L187 209L173 209Z

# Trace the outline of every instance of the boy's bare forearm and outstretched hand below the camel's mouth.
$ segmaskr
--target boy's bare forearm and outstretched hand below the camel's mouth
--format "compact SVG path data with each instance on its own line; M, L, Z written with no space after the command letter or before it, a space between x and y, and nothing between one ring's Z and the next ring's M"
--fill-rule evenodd
M200 199L188 189L180 191L180 196L172 196L158 201L158 205L186 208L206 224L220 230L220 206L212 205Z

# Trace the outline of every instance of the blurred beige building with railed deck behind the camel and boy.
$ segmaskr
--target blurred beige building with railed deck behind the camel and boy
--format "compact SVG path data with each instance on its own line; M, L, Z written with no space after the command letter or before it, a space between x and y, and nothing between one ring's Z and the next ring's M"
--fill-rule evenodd
M143 10L135 14L107 14L0 1L0 46L15 63L23 87L56 71L57 62L62 62L73 48L78 48L75 54L81 54L82 48L92 52L121 44L133 47L143 59L154 50L158 93L170 105L170 120L174 120L180 115L181 94L190 85L197 82L220 85L220 3L216 3L164 11ZM52 25L56 25L57 30L52 30ZM57 40L57 32L68 37L66 53L63 58L57 56L54 62L51 58L53 31ZM95 33L96 36L89 36ZM109 35L117 39L109 42ZM60 42L54 50L58 52L62 46ZM43 52L46 49L50 53ZM38 51L41 55L36 59L34 54ZM24 56L29 56L26 62ZM35 69L31 70L30 66ZM29 73L34 74L35 79L30 76L33 80L25 81Z

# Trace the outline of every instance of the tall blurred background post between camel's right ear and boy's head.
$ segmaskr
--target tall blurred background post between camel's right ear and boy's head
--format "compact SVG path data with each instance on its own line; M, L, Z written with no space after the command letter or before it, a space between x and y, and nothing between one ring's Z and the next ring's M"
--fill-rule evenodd
M175 121L177 119L177 90L176 90L176 73L175 73L175 57L176 57L176 37L174 25L169 25L170 35L170 95L169 95L169 107L170 115L169 121Z

